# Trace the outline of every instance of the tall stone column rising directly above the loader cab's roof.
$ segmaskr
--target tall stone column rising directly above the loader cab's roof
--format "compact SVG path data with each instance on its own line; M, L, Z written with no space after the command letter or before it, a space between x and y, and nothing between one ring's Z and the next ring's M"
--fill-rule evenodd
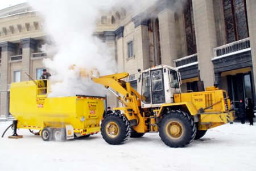
M176 28L173 1L159 1L158 19L162 64L174 67L177 59Z

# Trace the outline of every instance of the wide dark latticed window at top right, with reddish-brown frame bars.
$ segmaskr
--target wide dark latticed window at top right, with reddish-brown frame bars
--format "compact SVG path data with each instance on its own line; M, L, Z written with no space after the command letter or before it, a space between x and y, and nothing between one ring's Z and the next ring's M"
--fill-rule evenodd
M245 0L222 0L226 42L249 37Z

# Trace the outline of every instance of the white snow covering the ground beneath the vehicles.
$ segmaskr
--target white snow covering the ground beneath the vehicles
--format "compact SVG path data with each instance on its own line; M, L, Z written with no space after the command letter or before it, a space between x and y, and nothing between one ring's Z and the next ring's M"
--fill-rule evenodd
M0 134L11 122L0 122ZM256 170L256 126L226 124L185 148L166 146L156 133L112 146L101 134L44 142L28 130L0 138L0 170Z

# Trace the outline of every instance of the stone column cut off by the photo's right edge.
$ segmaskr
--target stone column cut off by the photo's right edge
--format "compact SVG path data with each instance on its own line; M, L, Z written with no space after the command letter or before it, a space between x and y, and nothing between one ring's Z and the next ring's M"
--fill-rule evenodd
M250 35L250 46L251 46L251 60L253 62L253 68L251 70L251 76L253 77L252 87L254 92L254 104L256 105L256 1L255 0L247 0L246 1L247 8L247 19L248 19L248 27L249 27L249 35Z

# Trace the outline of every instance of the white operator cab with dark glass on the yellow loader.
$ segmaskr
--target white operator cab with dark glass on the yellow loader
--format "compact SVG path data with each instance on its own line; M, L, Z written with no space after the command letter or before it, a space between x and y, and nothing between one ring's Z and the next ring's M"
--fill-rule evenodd
M140 77L142 108L174 102L174 94L180 93L181 77L175 68L160 65L144 70Z

